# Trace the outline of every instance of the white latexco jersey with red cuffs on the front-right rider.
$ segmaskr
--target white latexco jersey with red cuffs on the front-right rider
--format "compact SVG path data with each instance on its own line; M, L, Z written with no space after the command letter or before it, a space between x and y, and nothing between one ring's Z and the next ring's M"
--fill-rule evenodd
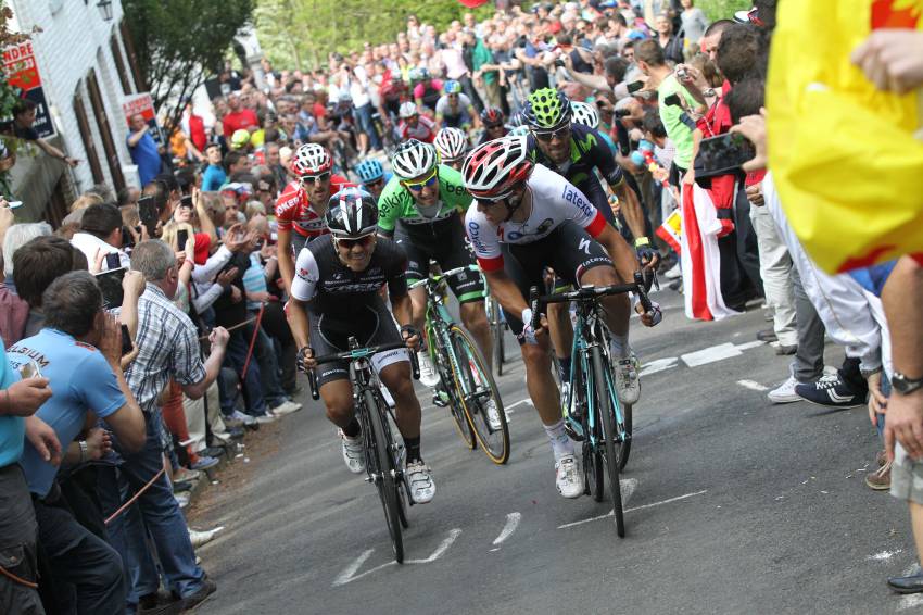
M594 238L605 229L603 214L583 192L557 173L535 165L526 185L532 196L532 211L524 222L508 221L494 226L478 208L468 209L465 228L484 272L503 268L501 243L532 243L567 221Z

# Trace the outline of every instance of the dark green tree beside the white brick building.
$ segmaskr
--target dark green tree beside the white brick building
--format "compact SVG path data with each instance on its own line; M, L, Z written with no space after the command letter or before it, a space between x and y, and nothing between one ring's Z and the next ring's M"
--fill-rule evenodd
M220 70L254 0L123 0L154 106L191 95ZM180 111L176 111L178 117Z

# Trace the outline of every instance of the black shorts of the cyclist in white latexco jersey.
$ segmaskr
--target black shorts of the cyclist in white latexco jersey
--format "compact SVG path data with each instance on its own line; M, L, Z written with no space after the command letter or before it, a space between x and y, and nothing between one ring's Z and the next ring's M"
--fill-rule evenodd
M533 286L545 293L544 271L552 267L558 278L579 286L587 269L612 266L612 260L603 246L572 222L565 222L551 235L532 243L503 243L503 269L513 280L526 301ZM522 332L521 314L510 314L504 309L509 329ZM520 339L520 343L522 340Z

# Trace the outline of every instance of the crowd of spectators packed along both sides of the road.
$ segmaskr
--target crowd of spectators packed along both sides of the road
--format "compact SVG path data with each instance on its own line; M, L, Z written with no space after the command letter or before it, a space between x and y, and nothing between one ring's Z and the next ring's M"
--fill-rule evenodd
M246 429L301 407L274 218L293 151L321 145L372 190L363 165L408 134L503 135L543 87L589 103L645 228L679 212L684 235L696 233L690 222L704 225L710 208L712 262L687 237L681 255L667 240L663 275L691 317L766 302L773 326L757 335L793 356L769 401L868 400L883 430L882 285L820 273L760 167L774 14L770 0L715 23L692 0L580 0L467 14L441 33L409 16L394 42L332 53L315 71L264 61L262 74L223 73L227 93L207 111L188 104L166 143L132 118L142 188L94 187L60 228L14 224L0 206L0 565L13 575L0 578L0 605L166 613L215 591L193 550L211 534L181 512L189 490ZM757 159L710 174L699 146L729 131ZM696 303L694 279L709 275L716 292ZM833 372L825 334L845 348ZM890 456L874 452L881 469L867 482L887 489Z

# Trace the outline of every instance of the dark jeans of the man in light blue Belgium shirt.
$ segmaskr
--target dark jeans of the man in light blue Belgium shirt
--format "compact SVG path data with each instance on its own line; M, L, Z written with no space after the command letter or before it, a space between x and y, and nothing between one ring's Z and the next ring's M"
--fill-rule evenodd
M128 588L118 553L77 523L60 491L52 488L51 493L48 501L34 499L33 503L38 540L53 581L74 586L78 614L124 613Z

